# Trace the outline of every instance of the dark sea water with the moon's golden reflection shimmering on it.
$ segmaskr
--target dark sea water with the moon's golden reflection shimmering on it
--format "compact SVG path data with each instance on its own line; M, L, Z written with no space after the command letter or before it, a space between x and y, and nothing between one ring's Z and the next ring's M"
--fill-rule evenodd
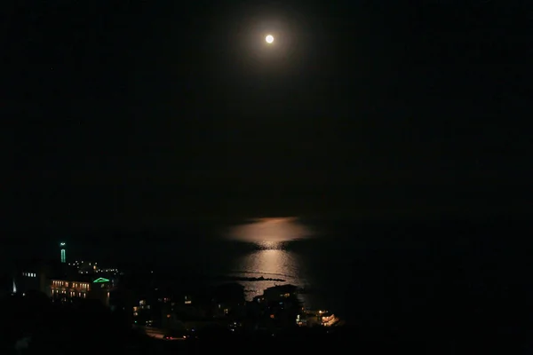
M510 219L355 223L269 218L171 231L88 233L67 242L71 260L163 268L176 275L283 280L241 283L249 298L274 284L307 288L307 306L367 326L399 326L406 319L513 319L520 324L516 317L533 314L532 231L529 222ZM39 251L59 253L55 248Z

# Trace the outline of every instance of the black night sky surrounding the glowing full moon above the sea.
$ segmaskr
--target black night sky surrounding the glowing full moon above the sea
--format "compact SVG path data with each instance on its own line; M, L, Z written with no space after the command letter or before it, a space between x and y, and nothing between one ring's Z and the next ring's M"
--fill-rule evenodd
M376 3L12 2L6 224L529 213L532 6Z

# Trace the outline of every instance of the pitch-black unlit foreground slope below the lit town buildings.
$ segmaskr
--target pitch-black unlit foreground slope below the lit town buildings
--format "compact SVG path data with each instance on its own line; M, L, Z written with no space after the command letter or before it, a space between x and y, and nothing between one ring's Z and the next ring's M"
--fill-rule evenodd
M276 334L206 328L197 339L163 341L135 331L120 312L96 302L52 304L44 295L8 296L3 300L2 354L14 353L529 353L529 325L498 322L497 309L478 319L450 312L404 313L402 322L388 318L345 327L290 327ZM16 343L28 339L28 346Z

